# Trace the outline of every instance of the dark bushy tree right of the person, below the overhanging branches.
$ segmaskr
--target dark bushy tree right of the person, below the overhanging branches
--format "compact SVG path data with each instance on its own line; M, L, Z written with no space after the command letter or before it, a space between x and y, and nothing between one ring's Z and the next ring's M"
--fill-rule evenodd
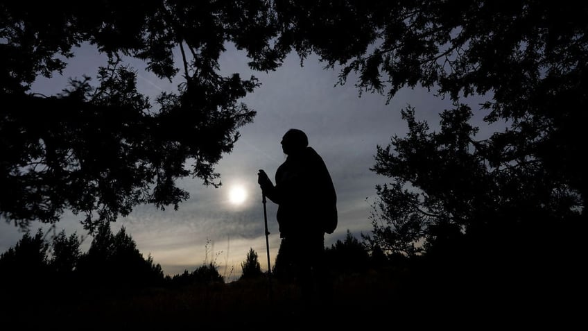
M474 139L465 106L443 112L438 133L412 108L403 115L408 135L377 154L374 171L392 183L377 187L367 241L420 262L405 285L416 289L410 298L452 296L482 307L507 298L505 309L545 309L581 286L578 192L537 159L491 166L492 142Z

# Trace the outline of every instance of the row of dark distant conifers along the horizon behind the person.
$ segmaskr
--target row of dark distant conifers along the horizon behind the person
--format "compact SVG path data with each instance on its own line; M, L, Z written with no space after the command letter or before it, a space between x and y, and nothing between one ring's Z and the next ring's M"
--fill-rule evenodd
M216 262L205 262L193 271L164 275L153 257L144 257L139 252L124 227L113 234L110 224L105 224L98 229L85 253L80 249L81 239L76 233L67 236L61 231L51 239L47 237L42 230L37 230L35 235L26 232L15 246L0 255L0 288L22 291L58 285L77 289L141 289L227 281L218 272ZM338 240L325 248L325 255L327 268L334 276L363 273L390 262L383 251L368 249L349 231L344 241ZM283 275L279 253L276 262L273 274L279 278ZM257 252L252 248L241 269L240 280L267 276L261 271Z

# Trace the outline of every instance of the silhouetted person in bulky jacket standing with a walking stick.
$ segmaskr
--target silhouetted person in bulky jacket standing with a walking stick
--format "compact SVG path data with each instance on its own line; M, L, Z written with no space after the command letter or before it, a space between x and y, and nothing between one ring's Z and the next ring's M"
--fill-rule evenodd
M275 185L263 170L257 180L263 194L278 205L279 264L299 282L304 300L315 301L315 295L325 299L330 284L322 259L325 232L334 230L327 224L336 226L335 188L325 162L309 147L302 130L288 130L281 144L288 156L275 173Z

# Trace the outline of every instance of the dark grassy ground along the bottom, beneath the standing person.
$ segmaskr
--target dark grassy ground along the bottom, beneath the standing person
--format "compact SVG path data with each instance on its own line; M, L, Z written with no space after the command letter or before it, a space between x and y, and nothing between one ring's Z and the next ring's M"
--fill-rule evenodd
M399 273L347 275L334 280L331 300L310 305L297 287L275 280L271 291L267 280L124 293L112 289L76 292L48 285L46 292L12 290L3 296L1 328L575 330L580 325L572 325L585 324L583 304L573 301L578 294L565 286L557 290L533 282L463 283Z

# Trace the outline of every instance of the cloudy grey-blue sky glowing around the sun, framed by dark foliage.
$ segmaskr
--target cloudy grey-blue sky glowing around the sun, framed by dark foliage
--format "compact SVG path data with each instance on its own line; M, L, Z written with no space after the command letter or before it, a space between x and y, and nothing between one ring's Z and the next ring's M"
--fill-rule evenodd
M45 95L61 92L68 78L87 74L96 82L96 69L105 65L105 56L91 46L83 46L62 76L37 79L33 92ZM137 69L137 87L151 99L162 91L176 91L181 78L168 82L144 71L144 63L130 60ZM370 234L370 212L377 198L376 185L388 183L389 178L370 171L374 165L377 146L386 146L390 137L404 137L406 123L400 110L408 104L416 108L416 117L434 127L438 112L449 108L447 101L423 89L403 89L386 104L386 96L365 93L361 97L351 76L343 86L337 85L338 69L323 69L325 63L310 56L301 66L295 53L284 65L269 73L251 71L241 51L227 45L219 60L220 72L234 72L243 78L256 76L261 83L242 102L257 111L254 121L239 129L241 137L231 153L225 154L216 165L222 186L205 186L202 180L185 178L178 185L187 189L191 197L180 204L157 210L150 205L135 207L128 217L112 223L116 233L124 226L137 243L139 251L160 264L165 275L193 271L202 264L213 263L225 281L241 275L241 263L252 248L259 257L261 269L267 270L266 238L264 230L261 189L257 185L257 171L264 169L273 179L275 170L286 160L279 142L290 128L299 128L309 137L309 146L322 156L329 168L338 197L338 228L325 235L325 246L344 240L347 231L360 239L361 233ZM178 66L179 67L179 66ZM240 187L245 194L242 203L230 199L232 189ZM277 206L266 203L270 263L279 248L279 232L275 213ZM92 237L80 226L79 219L66 212L55 225L55 231L83 237L83 250ZM33 223L31 231L48 229ZM0 253L14 246L23 232L6 220L0 221Z

